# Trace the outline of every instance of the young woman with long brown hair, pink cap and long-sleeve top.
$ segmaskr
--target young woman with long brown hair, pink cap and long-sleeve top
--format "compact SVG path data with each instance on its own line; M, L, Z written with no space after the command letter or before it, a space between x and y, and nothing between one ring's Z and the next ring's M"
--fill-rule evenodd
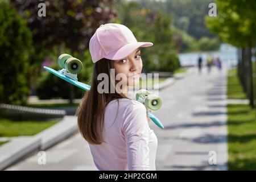
M77 116L80 133L99 170L155 170L158 140L148 126L146 107L127 97L128 86L139 83L140 48L152 45L137 42L129 28L117 23L102 24L90 39L92 87L82 98ZM112 80L113 70L114 77L125 75L114 92L111 87L116 88L121 80ZM104 93L99 90L102 74L109 77Z

